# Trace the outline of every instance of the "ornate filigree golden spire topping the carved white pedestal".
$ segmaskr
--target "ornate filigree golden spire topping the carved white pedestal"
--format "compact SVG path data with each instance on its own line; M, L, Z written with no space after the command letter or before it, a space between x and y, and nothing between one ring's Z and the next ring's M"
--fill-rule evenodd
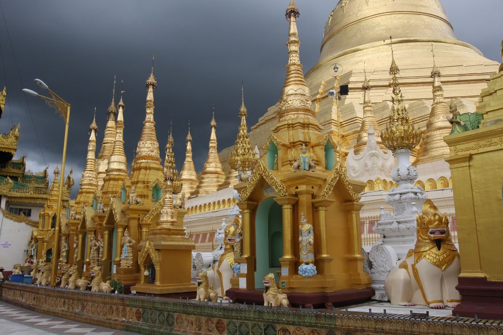
M381 138L386 148L394 153L397 150L412 150L421 141L421 131L416 130L410 123L407 109L403 104L403 95L397 78L400 69L393 57L393 44L391 44L391 59L389 68L390 85L393 88L391 116L389 117L389 124L381 133Z

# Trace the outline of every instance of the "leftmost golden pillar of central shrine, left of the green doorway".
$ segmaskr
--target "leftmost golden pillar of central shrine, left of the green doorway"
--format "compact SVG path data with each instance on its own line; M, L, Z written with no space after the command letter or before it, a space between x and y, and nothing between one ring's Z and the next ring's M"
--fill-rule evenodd
M237 258L237 263L246 264L243 268L241 265L241 273L236 279L231 280L232 287L236 285L241 289L255 289L255 256L254 256L254 241L255 241L255 216L253 214L257 207L257 202L242 201L238 202L237 206L241 209L241 221L243 230L243 254ZM246 287L239 284L238 278L246 278Z

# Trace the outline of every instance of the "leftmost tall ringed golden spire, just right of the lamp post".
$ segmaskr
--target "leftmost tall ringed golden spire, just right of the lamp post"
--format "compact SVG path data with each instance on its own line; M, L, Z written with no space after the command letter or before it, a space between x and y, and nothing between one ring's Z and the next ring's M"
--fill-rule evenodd
M98 132L98 125L96 124L96 107L93 122L89 126L89 143L88 155L86 158L86 167L82 171L80 177L80 187L78 189L77 197L75 198L75 205L77 211L80 211L80 205L89 204L93 201L93 196L98 190L98 173L96 172L96 133Z

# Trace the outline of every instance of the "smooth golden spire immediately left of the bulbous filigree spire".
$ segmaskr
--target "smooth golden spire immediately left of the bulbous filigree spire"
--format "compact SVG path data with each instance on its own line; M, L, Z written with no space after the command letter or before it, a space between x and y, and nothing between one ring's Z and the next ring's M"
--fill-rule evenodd
M213 106L213 109L215 106ZM217 123L215 121L215 112L213 111L213 117L210 122L211 135L210 144L208 150L208 157L203 165L203 171L201 172L201 182L199 183L199 194L208 194L218 190L224 179L225 174L222 170L222 164L218 158L217 149L217 135L216 128Z

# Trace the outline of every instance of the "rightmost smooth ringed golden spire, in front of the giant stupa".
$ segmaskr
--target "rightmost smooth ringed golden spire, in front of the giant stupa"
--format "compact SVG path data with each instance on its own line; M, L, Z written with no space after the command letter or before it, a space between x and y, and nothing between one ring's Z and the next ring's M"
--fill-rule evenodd
M414 162L416 165L449 157L449 146L444 142L444 136L449 135L452 129L452 125L446 118L451 114L451 111L444 98L444 88L442 88L440 80L442 73L435 64L433 44L432 54L433 105L426 124L426 131L423 134L423 142L421 143L417 160Z

